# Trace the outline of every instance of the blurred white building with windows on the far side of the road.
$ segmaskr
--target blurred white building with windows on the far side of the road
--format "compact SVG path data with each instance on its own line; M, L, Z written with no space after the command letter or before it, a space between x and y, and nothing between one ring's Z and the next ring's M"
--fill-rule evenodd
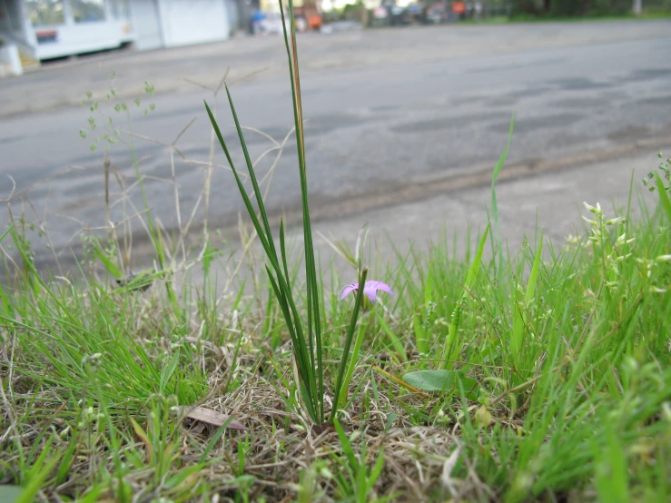
M42 61L134 43L138 50L227 39L243 0L0 0L0 39Z

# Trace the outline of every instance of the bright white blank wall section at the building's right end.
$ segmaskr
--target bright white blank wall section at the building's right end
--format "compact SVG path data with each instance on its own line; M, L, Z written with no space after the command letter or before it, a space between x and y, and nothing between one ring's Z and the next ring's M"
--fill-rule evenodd
M166 47L226 40L231 26L224 0L160 0Z

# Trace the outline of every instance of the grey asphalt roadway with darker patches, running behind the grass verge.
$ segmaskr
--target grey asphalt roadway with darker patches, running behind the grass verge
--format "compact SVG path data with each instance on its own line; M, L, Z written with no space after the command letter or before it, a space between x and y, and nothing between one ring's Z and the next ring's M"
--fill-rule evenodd
M489 28L479 29L484 34ZM417 34L412 32L413 37L421 36ZM423 59L419 57L413 61L406 50L398 64L385 59L383 64L365 67L304 72L301 85L313 205L328 207L345 196L374 200L390 185L493 166L505 146L512 113L516 124L509 163L561 159L651 136L671 138L671 36L543 46L543 26L535 26L534 34L538 48L507 53L496 47L489 54L431 61L419 61ZM360 40L363 50L366 39ZM101 85L104 88L105 83ZM232 95L244 125L278 141L290 132L291 94L282 75L235 84ZM212 100L208 92L198 90L145 97L139 107L126 101L131 129L172 143L183 126L196 118L176 145L187 159L207 162L212 128L203 98ZM220 94L220 104L222 99ZM143 109L150 103L155 109L144 116ZM242 168L242 153L224 105L219 107L222 130ZM123 114L104 102L94 114L94 131L88 126L89 116L86 108L64 107L0 122L0 197L12 191L13 182L6 176L11 175L16 192L27 190L28 220L42 223L58 250L79 244L80 238L73 236L83 224L104 224L103 151L92 153L89 144L104 133L108 116L114 126L128 127ZM88 131L86 140L80 137L80 129ZM272 146L259 133L246 134L252 158ZM130 141L125 133L122 138ZM175 227L170 149L141 138L134 138L133 146L140 171L147 177L144 184L154 214L165 227ZM221 148L215 150L214 162L223 165ZM132 187L130 201L141 210L142 197L133 187L131 153L117 143L112 145L110 159L121 178L126 177L126 186ZM272 154L259 163L259 176L267 172L271 160ZM202 192L205 169L183 162L175 153L174 174L181 218L186 222ZM121 195L117 179L112 179L110 190L114 202ZM295 142L290 139L267 203L271 211L281 212L295 207L299 196ZM212 220L232 221L241 209L232 174L214 168ZM15 216L20 211L20 198L15 195ZM130 206L125 211L134 212ZM200 221L202 206L195 214ZM121 202L113 205L111 218L123 220ZM3 227L6 220L5 214L0 215ZM135 229L140 228L136 222ZM35 236L34 242L37 249L46 245L44 238Z

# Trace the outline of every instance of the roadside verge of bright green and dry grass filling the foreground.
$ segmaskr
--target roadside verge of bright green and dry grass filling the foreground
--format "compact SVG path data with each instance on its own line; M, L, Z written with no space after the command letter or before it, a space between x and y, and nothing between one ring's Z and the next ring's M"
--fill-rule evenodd
M311 243L300 99L294 113ZM40 273L15 218L0 236L0 500L668 501L671 161L646 179L652 207L632 185L624 209L587 205L566 247L538 231L516 249L497 228L504 160L478 235L381 260L362 232L354 252L333 243L350 277L310 244L296 258L250 159L234 177L255 231L241 223L242 256L207 231L189 254L147 225L161 263L142 288L117 284L116 240ZM395 296L358 316L361 295L339 291L366 268Z

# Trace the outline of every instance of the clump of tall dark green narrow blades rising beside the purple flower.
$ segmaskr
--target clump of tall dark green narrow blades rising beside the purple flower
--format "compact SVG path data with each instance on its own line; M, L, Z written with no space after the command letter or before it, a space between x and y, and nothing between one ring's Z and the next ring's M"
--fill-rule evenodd
M301 104L301 77L298 64L298 46L296 44L296 28L292 0L289 0L288 9L289 23L291 26L289 32L287 32L287 23L284 16L284 5L282 4L281 0L280 8L284 44L289 62L291 101L293 104L293 119L298 151L299 179L301 182L301 209L306 289L306 320L304 322L301 321L299 309L297 307L296 301L294 300L293 291L291 289L289 268L287 266L287 253L285 248L284 223L283 221L280 223L280 253L278 254L272 236L271 224L268 219L268 212L266 211L265 204L263 202L263 195L261 194L261 189L259 187L256 174L254 173L254 167L247 149L247 143L245 142L244 134L242 133L242 126L240 125L238 115L235 112L235 106L233 104L232 95L228 85L225 86L226 94L228 96L229 105L231 107L233 122L235 123L238 138L242 146L244 160L247 164L249 178L252 182L253 195L256 200L258 214L257 210L254 209L251 198L247 195L247 192L244 189L242 178L232 162L231 154L223 140L222 132L207 102L205 102L205 108L208 115L210 116L210 121L212 122L214 132L219 139L219 143L222 145L222 150L226 156L226 160L231 166L235 181L238 184L238 189L240 190L240 194L242 196L242 201L244 202L247 212L249 213L254 229L259 236L259 241L261 242L263 252L265 252L267 260L266 271L268 272L268 277L271 281L272 291L280 305L284 321L286 321L287 329L291 335L294 361L298 370L298 376L300 380L299 388L301 390L303 403L312 421L321 424L326 419L324 409L324 344L321 333L320 308L320 300L322 296L320 294L320 283L317 280L317 267L312 240L310 204L308 198L308 175L305 163L303 113ZM363 285L366 280L366 274L367 271L365 269L360 269L361 285ZM349 350L351 342L356 331L357 318L360 311L360 305L362 303L362 291L363 288L360 288L354 310L352 312L350 326L345 336L344 351L340 360L338 378L333 389L335 400L333 401L334 406L331 410L330 419L333 419L338 409L341 387L346 382L344 379L345 370L347 369L347 361L350 358Z

